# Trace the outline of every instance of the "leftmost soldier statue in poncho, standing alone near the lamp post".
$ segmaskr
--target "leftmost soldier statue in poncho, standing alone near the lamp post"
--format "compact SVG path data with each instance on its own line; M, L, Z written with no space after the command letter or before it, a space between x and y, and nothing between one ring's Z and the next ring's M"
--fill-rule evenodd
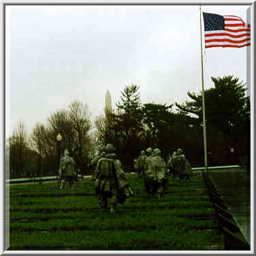
M60 160L59 180L61 183L60 189L63 189L66 182L69 183L69 188L71 188L74 181L78 181L75 161L72 157L69 157L69 151L67 149L65 149L64 156Z

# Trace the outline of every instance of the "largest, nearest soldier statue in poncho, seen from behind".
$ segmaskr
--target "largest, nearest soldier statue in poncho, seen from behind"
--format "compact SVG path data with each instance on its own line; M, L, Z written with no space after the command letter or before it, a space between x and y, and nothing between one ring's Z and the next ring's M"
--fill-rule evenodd
M115 212L116 204L123 204L129 195L133 195L115 151L112 144L106 146L106 155L99 159L93 175L95 195L101 197L100 204L105 211L108 211L109 199L110 213Z

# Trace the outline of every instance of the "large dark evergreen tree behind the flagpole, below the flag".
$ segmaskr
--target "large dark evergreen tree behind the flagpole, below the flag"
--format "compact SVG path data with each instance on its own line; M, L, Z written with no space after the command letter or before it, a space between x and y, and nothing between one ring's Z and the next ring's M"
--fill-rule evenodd
M246 97L243 82L233 76L213 78L214 87L205 91L206 135L208 152L214 164L239 164L242 156L250 155L250 98ZM187 93L192 99L176 103L181 113L195 114L197 125L202 126L202 93ZM235 148L230 153L230 148Z

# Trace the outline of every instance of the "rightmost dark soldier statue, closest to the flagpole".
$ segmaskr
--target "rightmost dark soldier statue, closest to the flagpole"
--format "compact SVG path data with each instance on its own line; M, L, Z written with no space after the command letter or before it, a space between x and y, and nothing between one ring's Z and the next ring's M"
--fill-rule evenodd
M186 159L185 154L181 148L176 150L176 155L172 159L175 172L180 179L180 185L185 184L191 177L192 170L189 161Z

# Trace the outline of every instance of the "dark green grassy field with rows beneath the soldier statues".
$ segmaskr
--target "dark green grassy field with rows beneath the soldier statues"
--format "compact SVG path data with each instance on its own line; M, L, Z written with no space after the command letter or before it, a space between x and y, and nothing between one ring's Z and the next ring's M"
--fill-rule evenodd
M10 186L9 250L223 250L200 174L186 187L170 177L161 202L136 175L127 178L135 197L114 214L99 208L92 180L63 191L57 182Z

